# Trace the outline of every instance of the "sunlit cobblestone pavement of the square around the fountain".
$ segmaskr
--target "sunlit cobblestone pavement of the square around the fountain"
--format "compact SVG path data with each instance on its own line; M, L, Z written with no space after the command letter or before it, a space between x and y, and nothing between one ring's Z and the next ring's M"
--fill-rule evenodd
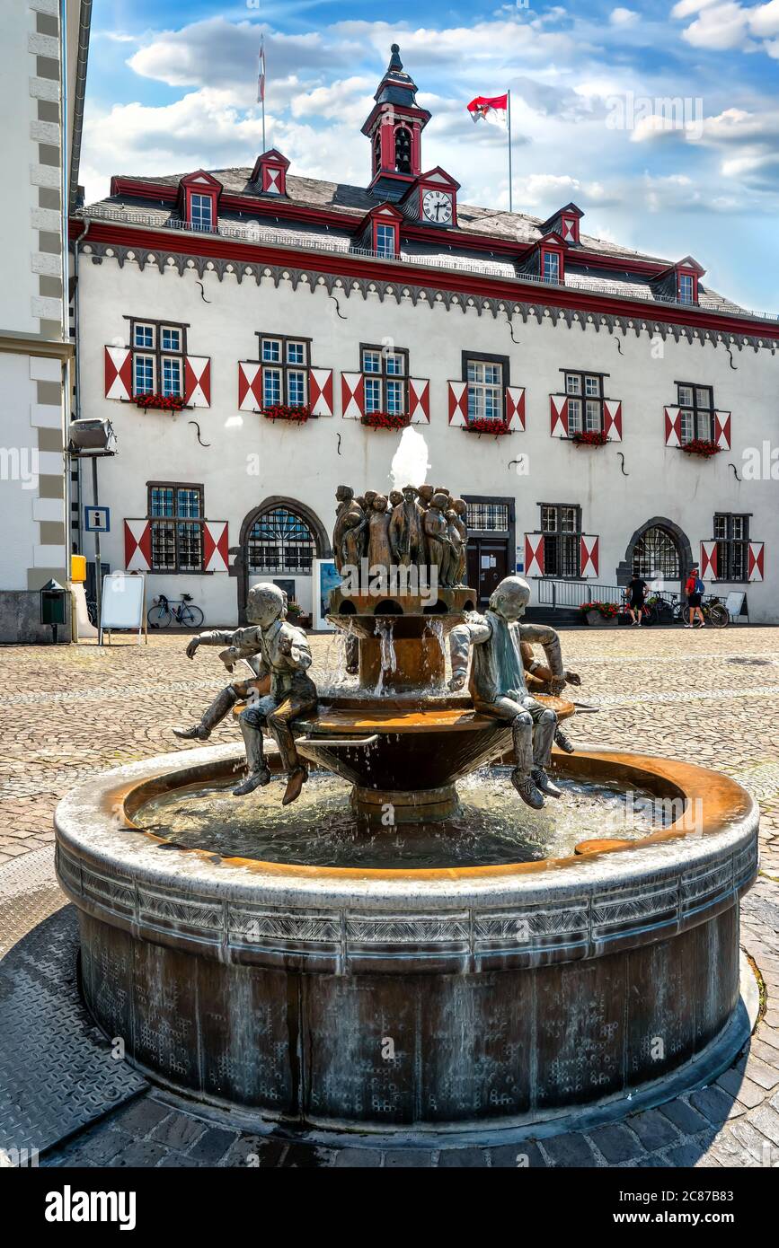
M42 1158L77 1166L779 1166L779 629L566 630L563 654L600 706L577 743L619 745L718 768L760 801L762 872L743 906L743 945L765 1012L749 1050L712 1087L619 1123L494 1148L316 1147L246 1136L147 1093ZM184 636L56 649L0 648L1 864L51 841L59 797L105 768L176 748L171 725L198 718L225 683L215 650L191 663ZM341 650L313 639L315 675ZM221 725L213 744L235 739ZM519 1162L522 1164L522 1159Z

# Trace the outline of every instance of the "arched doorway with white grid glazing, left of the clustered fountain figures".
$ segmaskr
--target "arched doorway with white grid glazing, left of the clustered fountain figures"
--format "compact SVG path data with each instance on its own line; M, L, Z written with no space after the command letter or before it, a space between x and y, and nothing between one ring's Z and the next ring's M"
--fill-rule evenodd
M238 578L238 619L246 622L252 585L270 580L293 598L303 614L313 605L313 560L331 558L318 515L293 498L272 497L248 513L241 525L233 572Z

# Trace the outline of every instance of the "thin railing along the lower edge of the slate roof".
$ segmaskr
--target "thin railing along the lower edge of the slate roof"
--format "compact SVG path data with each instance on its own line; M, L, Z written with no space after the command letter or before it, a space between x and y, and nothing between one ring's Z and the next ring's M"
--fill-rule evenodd
M592 295L604 295L612 298L625 298L644 303L660 303L677 308L692 308L699 312L714 312L722 316L732 317L745 317L750 321L779 321L779 314L772 312L753 312L749 308L737 308L730 307L725 303L682 303L679 300L673 298L668 295L655 295L652 291L645 293L635 293L635 291L625 291L623 286L598 286L597 290L578 283L576 281L576 275L571 275L571 281L556 282L552 278L544 277L543 275L528 275L528 273L514 273L507 272L507 270L513 270L511 260L506 261L478 261L464 258L459 256L426 256L416 255L408 252L399 252L396 256L387 256L382 252L371 251L367 247L352 247L351 238L348 236L338 237L325 237L321 235L308 235L308 233L292 233L273 230L261 230L258 225L251 222L248 225L230 225L226 221L220 222L211 230L203 230L202 226L194 226L189 221L180 221L177 218L160 221L157 216L150 216L145 212L137 212L131 208L115 208L112 206L104 206L100 203L90 205L87 208L82 208L79 213L84 220L105 220L105 221L117 221L124 225L137 225L147 226L155 230L172 230L185 233L197 233L197 235L216 235L221 238L233 238L238 242L248 243L262 243L265 246L273 247L286 247L290 250L300 250L306 247L308 251L313 252L330 252L331 255L338 256L361 256L367 260L385 260L399 265L412 265L423 268L443 268L454 272L469 272L481 273L488 277L502 277L507 281L516 281L521 287L524 283L532 283L533 286L551 286L561 291L581 291L582 293ZM345 228L348 228L345 222ZM468 236L462 236L463 245L467 243ZM89 245L87 245L89 246ZM627 262L625 262L627 263ZM517 293L519 298L519 292ZM531 300L532 302L532 300Z

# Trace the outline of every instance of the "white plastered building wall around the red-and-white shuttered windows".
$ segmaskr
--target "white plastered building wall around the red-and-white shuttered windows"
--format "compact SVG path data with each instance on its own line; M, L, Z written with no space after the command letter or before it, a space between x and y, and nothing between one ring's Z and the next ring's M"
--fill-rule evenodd
M341 372L360 369L361 342L392 339L408 348L411 376L431 381L431 422L417 427L429 448L428 480L454 494L513 497L519 548L523 533L539 528L541 502L578 503L583 530L600 538L597 579L614 584L630 537L652 517L678 524L698 558L700 540L713 537L715 510L752 513L750 535L765 543L765 582L735 588L747 589L753 622L779 619L777 482L737 480L737 472L744 477L745 448L775 442L779 364L769 349L734 348L732 367L722 344L702 346L684 337L674 342L670 336L660 343L645 332L610 334L605 328L595 332L592 324L583 331L562 318L541 326L534 318L527 323L514 318L516 343L503 314L496 319L474 310L447 311L442 305L414 307L411 300L398 306L390 296L380 302L377 295L366 301L358 293L350 298L341 293L338 302L346 319L323 290L312 295L301 285L293 291L286 281L276 290L270 278L257 287L253 277L238 285L231 275L220 282L208 272L201 293L194 271L180 277L169 268L161 275L152 265L141 271L132 261L120 268L109 257L90 263L85 246L84 416L110 417L119 438L116 458L100 466L101 502L112 508L112 532L102 549L112 568L124 567L122 518L146 515L149 480L202 483L206 517L228 520L231 547L238 542L243 518L268 497L305 503L330 530L337 484L351 484L357 492L391 488L390 466L401 434L342 418ZM189 323L189 352L211 357L210 409L145 413L104 398L104 347L129 344L129 316ZM296 427L238 413L237 361L257 358L257 331L312 338L312 364L333 369L332 418ZM526 387L526 432L479 438L448 426L447 382L462 378L463 349L509 357L511 383ZM594 449L551 437L549 394L563 389L562 368L609 374L605 394L623 404L622 443ZM675 404L678 381L712 386L715 407L733 413L730 452L703 461L665 447L663 408ZM207 448L198 444L190 421L197 421ZM509 461L522 453L529 470L518 475ZM523 550L518 553L522 559ZM151 593L192 593L210 624L236 619L236 578L149 579ZM718 583L717 592L728 588ZM310 607L305 585L300 600Z

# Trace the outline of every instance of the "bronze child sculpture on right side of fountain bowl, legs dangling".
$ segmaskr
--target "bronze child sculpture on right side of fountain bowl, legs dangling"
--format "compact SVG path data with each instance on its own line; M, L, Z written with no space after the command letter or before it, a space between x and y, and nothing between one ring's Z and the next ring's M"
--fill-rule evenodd
M544 794L559 797L561 790L547 775L557 715L542 706L527 690L522 641L539 643L554 679L564 679L559 638L544 624L519 624L531 600L531 587L521 577L506 577L489 599L484 615L469 612L463 624L449 633L452 679L449 689L462 689L473 646L471 696L478 711L507 720L514 740L512 784L534 810Z

